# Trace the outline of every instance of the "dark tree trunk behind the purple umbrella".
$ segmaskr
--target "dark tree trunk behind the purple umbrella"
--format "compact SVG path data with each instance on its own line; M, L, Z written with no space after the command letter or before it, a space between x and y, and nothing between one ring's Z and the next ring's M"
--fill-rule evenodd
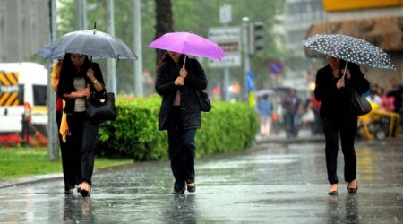
M167 32L172 32L173 20L172 20L172 4L171 0L155 0L155 13L157 23L155 26L155 39L158 39ZM157 49L156 63L159 64L159 60L164 56L165 50Z

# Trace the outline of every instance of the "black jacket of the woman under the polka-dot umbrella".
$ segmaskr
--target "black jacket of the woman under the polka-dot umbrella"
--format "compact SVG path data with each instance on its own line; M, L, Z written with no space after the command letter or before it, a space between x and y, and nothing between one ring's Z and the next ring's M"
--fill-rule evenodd
M344 68L341 63L340 68ZM321 101L320 116L322 118L340 118L356 116L349 108L350 90L355 89L358 93L364 93L369 90L369 82L361 73L360 67L354 63L348 62L347 68L351 73L351 78L345 78L345 87L337 89L336 83L342 77L333 78L330 65L324 66L316 73L316 85L314 90L315 98ZM341 69L340 69L341 71Z

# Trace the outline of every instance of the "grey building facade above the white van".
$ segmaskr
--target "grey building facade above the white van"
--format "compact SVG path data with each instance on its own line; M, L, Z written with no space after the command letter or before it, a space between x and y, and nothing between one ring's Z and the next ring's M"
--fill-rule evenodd
M31 61L49 42L49 0L0 0L0 62Z

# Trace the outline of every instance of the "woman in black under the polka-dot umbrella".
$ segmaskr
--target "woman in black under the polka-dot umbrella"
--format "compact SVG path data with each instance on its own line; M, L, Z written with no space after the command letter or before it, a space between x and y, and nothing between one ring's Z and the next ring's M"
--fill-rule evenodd
M338 194L339 178L337 175L337 159L339 136L341 150L344 155L344 178L348 193L356 193L356 150L355 138L357 130L356 114L349 108L349 90L359 93L369 90L369 82L361 73L360 67L333 56L326 56L328 65L316 73L315 98L321 101L320 116L325 135L325 156L330 195ZM343 73L346 73L343 78Z

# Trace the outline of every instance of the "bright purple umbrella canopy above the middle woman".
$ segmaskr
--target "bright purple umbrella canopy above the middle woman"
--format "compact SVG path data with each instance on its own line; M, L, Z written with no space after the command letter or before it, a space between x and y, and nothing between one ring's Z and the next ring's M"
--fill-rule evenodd
M214 60L221 60L226 56L225 51L217 43L191 32L168 32L152 41L149 47Z

